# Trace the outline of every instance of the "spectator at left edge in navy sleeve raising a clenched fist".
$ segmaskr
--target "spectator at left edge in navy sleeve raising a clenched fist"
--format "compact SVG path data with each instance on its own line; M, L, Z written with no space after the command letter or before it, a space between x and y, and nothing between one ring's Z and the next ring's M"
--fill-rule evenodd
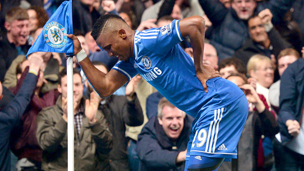
M31 100L30 97L36 87L37 73L43 63L42 58L35 54L31 55L29 61L29 72L26 74L20 91L15 98L0 111L0 170L11 169L9 148L10 133ZM2 97L2 84L0 81L0 100Z

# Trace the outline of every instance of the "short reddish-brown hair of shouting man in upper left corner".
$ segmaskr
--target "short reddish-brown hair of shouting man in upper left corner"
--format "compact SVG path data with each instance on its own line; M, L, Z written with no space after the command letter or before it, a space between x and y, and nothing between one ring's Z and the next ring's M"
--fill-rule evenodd
M5 15L5 22L12 23L14 20L28 20L27 11L20 7L9 10Z

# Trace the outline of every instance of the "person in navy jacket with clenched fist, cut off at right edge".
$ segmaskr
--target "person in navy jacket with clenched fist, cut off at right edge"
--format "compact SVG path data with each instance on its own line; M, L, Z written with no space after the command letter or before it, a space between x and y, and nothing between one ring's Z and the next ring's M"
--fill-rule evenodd
M281 77L280 111L274 153L277 170L304 169L304 59L290 64Z

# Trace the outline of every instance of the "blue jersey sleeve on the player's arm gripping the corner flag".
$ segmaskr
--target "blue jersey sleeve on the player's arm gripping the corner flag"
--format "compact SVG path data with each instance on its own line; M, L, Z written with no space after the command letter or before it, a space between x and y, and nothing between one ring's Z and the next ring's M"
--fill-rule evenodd
M129 62L120 61L112 69L117 70L118 72L124 74L129 81L137 74L137 71L134 69L134 66Z

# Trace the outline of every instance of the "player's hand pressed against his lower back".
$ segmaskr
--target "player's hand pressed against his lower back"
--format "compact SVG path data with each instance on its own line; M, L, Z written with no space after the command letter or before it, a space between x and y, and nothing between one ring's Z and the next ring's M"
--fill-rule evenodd
M207 80L211 79L211 78L215 78L215 77L219 77L219 72L216 71L215 69L207 66L207 65L203 65L203 69L201 71L197 71L197 77L198 79L201 81L203 88L205 90L205 92L208 92L208 88L207 88Z

